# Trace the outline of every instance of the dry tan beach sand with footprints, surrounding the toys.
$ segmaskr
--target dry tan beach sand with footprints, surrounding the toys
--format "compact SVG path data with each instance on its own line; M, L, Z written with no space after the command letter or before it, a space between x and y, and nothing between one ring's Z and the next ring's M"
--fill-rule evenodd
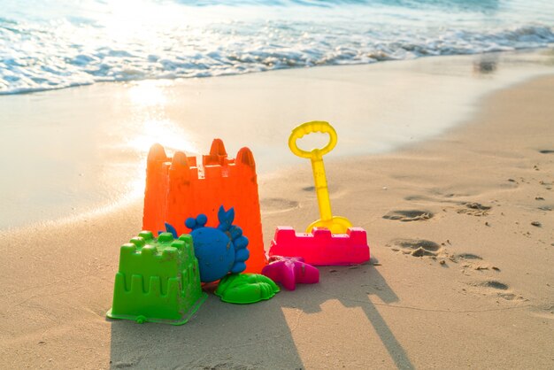
M334 214L365 228L370 263L320 267L319 284L259 304L211 295L181 327L105 318L139 198L0 231L0 367L552 368L552 102L550 72L427 140L327 155ZM266 248L275 227L319 218L307 160L258 186Z

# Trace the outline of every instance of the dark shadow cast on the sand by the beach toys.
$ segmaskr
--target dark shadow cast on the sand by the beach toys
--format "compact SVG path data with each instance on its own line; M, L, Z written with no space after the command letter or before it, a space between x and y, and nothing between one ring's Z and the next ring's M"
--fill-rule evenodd
M413 368L404 348L369 299L374 295L386 304L398 301L377 269L365 264L320 267L319 271L319 284L298 286L293 292L282 289L273 299L259 304L224 304L210 294L196 315L181 327L112 320L111 367L304 368L283 309L310 315L321 312L321 305L327 301L338 300L345 307L359 307L365 312L371 322L365 327L373 326L398 368ZM321 326L326 325L321 322ZM349 345L341 343L336 351ZM315 354L319 354L317 347L317 341L310 343ZM372 358L371 352L367 348L367 353L360 356Z

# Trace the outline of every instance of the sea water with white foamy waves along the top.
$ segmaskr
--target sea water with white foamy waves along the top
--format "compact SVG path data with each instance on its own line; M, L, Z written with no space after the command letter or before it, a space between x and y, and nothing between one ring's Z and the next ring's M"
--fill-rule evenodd
M546 47L548 0L4 0L0 94Z

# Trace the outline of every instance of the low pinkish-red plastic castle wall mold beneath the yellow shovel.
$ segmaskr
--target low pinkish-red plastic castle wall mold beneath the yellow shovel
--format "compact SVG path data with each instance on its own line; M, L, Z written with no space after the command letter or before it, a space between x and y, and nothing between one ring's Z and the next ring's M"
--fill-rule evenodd
M269 257L301 257L314 266L356 265L369 260L365 230L349 227L346 234L331 234L314 227L311 233L296 233L292 227L277 227Z

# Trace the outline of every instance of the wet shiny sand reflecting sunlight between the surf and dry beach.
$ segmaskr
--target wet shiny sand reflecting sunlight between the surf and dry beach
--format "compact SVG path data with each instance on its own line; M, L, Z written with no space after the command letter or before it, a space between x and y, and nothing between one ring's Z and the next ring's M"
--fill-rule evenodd
M384 153L466 122L495 89L553 71L554 53L540 50L2 96L0 231L139 201L153 143L197 155L219 137L231 158L248 146L263 189L284 167L311 171L287 145L304 121L335 127L326 163Z

